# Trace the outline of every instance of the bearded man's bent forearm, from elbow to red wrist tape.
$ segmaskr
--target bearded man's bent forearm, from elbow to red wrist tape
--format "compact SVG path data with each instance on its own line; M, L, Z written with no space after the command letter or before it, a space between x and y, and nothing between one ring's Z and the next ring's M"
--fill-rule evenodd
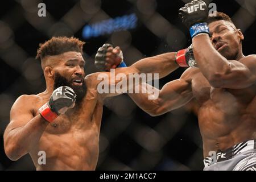
M18 160L38 144L40 137L48 126L48 122L37 115L26 125L11 129L4 135L6 155L11 160ZM6 129L6 131L8 128Z

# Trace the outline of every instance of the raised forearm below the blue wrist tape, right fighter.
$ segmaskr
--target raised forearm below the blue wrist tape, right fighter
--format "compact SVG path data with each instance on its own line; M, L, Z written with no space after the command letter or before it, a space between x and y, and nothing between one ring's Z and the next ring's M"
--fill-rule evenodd
M208 81L228 72L230 68L229 61L216 51L208 35L198 35L192 41L197 66Z

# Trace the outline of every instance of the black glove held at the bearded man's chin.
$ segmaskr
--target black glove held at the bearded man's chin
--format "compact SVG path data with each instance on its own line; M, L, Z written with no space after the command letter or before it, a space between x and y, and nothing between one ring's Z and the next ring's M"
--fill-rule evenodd
M57 115L64 114L75 105L76 93L69 86L60 86L55 89L48 102L49 108Z

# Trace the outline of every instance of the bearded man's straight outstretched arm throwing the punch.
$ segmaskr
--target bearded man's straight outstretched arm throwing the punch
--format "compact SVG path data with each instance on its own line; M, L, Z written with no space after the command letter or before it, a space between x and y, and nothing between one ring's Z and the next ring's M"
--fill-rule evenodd
M137 61L130 67L117 68L114 71L98 73L97 75L92 76L97 76L97 78L95 79L100 81L102 81L101 78L104 78L104 80L106 80L105 78L107 78L107 90L115 88L112 89L113 93L108 92L108 94L102 95L101 98L104 99L105 97L116 96L117 94L127 92L127 90L130 90L130 88L140 84L142 78L146 78L144 80L142 79L142 82L144 82L156 80L164 76L167 76L168 74L179 68L179 65L176 63L175 56L176 52L171 52L153 57L147 57ZM146 75L147 73L152 73L154 75ZM155 75L155 73L157 73L158 75ZM97 87L100 86L101 88L102 85L104 85L104 83L105 82L100 82L100 84L98 84Z

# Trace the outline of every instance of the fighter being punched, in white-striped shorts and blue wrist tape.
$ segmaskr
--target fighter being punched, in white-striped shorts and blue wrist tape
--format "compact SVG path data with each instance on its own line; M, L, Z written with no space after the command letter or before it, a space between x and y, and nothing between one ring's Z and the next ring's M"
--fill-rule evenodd
M192 7L200 8L193 8L191 13L188 9ZM151 115L174 110L195 98L204 170L255 170L256 55L243 55L241 30L224 13L208 17L203 1L187 3L179 15L189 28L193 46L178 51L174 57L170 53L172 64L162 67L159 73L172 72L177 64L190 68L179 79L164 85L155 100L148 100L150 93L129 96ZM150 72L150 67L154 70L155 65L164 65L165 61L148 62L138 69Z

